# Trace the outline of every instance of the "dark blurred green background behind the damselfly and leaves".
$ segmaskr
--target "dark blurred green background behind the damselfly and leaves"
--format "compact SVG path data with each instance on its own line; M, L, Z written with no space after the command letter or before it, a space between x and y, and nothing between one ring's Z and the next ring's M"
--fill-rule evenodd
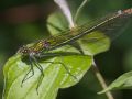
M82 0L68 0L73 12ZM132 0L90 0L85 16L95 19L120 9L132 8ZM50 35L46 19L57 9L53 0L2 0L0 1L0 95L3 88L2 66L23 44ZM132 70L132 23L113 41L111 48L96 56L106 81L110 84L121 74ZM101 87L92 72L67 89L61 89L57 99L107 99L97 95ZM132 99L132 90L113 91L116 99Z

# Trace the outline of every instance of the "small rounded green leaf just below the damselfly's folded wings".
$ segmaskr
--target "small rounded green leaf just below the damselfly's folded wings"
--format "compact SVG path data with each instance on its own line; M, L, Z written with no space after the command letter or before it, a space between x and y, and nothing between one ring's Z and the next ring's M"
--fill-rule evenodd
M110 40L101 32L92 32L79 42L86 55L96 55L106 52L110 47Z

